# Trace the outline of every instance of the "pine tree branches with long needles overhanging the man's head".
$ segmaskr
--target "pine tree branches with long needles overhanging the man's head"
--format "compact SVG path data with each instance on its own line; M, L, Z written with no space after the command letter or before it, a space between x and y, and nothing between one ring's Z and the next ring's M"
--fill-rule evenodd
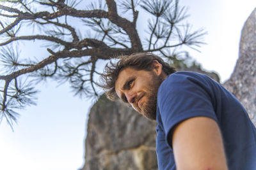
M188 15L178 0L2 0L0 10L0 121L10 125L17 110L36 103L35 85L42 80L68 81L76 95L98 96L100 61L151 52L184 64L187 54L178 48L197 48L205 34L184 24ZM138 34L140 13L150 18L145 38ZM21 56L21 42L44 45L47 55Z

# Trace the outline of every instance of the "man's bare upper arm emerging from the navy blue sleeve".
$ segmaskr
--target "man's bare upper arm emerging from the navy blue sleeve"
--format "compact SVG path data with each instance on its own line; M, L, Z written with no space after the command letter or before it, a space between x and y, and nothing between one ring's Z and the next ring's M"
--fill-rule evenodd
M189 118L178 124L172 146L177 170L228 169L221 132L212 118Z

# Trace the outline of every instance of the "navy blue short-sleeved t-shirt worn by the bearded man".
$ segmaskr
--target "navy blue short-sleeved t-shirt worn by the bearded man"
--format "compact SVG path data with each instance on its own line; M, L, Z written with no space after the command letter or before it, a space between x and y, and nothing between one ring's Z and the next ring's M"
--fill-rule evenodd
M159 170L176 169L172 152L173 127L191 117L209 117L217 122L228 169L256 169L256 129L241 103L208 76L179 71L163 81L157 94Z

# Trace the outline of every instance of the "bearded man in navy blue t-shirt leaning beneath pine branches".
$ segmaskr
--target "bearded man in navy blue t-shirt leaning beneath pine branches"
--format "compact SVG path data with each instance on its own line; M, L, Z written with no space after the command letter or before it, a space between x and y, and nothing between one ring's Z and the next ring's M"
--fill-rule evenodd
M159 169L256 169L256 129L243 106L208 76L175 71L152 53L106 66L102 87L157 121Z

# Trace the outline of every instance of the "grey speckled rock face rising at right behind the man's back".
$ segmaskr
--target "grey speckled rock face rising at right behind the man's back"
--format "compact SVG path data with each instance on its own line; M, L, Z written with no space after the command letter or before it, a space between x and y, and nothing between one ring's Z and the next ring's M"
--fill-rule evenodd
M244 24L239 59L224 86L241 101L256 125L256 8Z

